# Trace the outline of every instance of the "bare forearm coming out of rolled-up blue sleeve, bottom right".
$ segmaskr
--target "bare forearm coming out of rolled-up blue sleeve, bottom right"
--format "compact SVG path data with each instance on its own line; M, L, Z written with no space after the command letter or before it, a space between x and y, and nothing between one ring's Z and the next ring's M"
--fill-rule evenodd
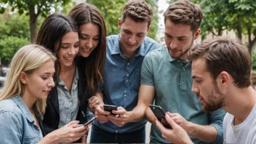
M188 133L188 135L196 137L197 139L207 143L212 143L217 138L217 129L209 125L202 126L188 122L188 127L185 128L185 131Z

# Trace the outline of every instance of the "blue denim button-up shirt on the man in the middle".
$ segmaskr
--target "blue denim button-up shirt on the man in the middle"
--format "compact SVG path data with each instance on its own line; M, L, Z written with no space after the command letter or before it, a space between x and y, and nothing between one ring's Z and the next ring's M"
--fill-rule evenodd
M132 111L137 105L140 88L140 69L145 55L153 49L161 47L156 41L145 37L137 54L130 60L122 54L119 46L120 35L107 37L107 56L103 72L104 103L123 107ZM108 132L124 133L133 132L145 126L146 121L132 122L118 127L111 121L94 124Z

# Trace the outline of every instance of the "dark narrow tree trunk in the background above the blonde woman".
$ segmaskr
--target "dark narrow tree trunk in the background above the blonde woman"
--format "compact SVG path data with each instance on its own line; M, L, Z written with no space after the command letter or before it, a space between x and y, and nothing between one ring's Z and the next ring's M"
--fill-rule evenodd
M36 21L37 15L35 13L35 6L29 6L29 26L31 31L31 44L36 43Z

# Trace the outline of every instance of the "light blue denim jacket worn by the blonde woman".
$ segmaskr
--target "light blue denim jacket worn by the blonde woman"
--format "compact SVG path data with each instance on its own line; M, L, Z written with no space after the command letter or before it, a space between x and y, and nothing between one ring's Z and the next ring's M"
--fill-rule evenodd
M41 119L39 123L41 126ZM40 129L20 96L0 101L0 143L38 143L41 139Z

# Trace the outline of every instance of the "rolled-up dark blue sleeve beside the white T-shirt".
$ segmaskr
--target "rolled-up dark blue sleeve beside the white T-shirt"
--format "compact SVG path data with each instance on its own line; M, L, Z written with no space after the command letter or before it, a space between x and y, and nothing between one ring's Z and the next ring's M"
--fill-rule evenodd
M209 113L209 121L211 126L215 127L217 130L217 138L213 143L223 143L223 119L225 116L225 111L218 109Z

